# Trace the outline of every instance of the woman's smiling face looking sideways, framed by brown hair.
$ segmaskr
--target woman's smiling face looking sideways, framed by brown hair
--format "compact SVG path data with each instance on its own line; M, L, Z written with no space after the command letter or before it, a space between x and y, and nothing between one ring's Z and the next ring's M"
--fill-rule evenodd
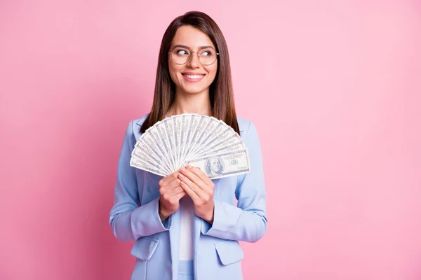
M205 64L206 59L209 59L211 55L210 52L213 51L213 55L215 55L215 45L210 38L199 29L183 25L175 33L170 51L173 53L168 55L168 66L177 92L184 94L208 92L209 86L216 76L218 59L213 64L206 66L201 64L197 53L201 53ZM175 60L182 60L182 57L187 57L189 54L191 58L185 64L177 64L171 57L173 55L173 57L178 57ZM180 61L178 62L180 63Z

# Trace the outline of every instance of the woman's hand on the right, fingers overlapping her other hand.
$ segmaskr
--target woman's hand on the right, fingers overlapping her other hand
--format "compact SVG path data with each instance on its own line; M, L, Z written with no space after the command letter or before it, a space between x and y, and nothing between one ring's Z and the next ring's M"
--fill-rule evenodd
M194 212L200 218L213 223L213 191L215 185L200 169L187 165L180 169L178 178L181 180L180 186L185 193L192 198Z

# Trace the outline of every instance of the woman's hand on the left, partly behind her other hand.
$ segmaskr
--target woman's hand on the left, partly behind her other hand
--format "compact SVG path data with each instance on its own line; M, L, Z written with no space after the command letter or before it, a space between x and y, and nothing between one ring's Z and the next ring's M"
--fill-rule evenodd
M186 195L180 187L180 172L174 172L159 180L159 217L165 220L180 208L180 199Z

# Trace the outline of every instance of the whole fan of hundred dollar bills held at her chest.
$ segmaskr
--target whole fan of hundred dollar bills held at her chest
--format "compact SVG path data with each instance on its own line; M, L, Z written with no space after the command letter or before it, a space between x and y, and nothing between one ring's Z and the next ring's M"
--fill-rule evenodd
M160 176L192 165L210 179L250 172L248 151L238 133L217 118L184 113L165 118L143 133L130 165Z

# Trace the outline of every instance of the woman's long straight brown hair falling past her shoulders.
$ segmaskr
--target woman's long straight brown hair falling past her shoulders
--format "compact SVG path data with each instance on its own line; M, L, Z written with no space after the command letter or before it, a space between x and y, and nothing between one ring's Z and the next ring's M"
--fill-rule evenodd
M156 122L163 120L171 104L173 104L175 83L171 80L168 69L168 52L175 32L183 25L190 25L203 31L210 38L213 45L215 45L216 51L219 52L218 70L215 80L213 80L213 83L209 87L213 117L224 121L237 133L240 133L234 106L227 42L216 22L210 16L206 15L206 13L197 11L187 12L175 18L163 34L161 48L159 50L158 67L156 69L154 102L149 116L147 116L142 127L140 127L140 132L145 132Z

